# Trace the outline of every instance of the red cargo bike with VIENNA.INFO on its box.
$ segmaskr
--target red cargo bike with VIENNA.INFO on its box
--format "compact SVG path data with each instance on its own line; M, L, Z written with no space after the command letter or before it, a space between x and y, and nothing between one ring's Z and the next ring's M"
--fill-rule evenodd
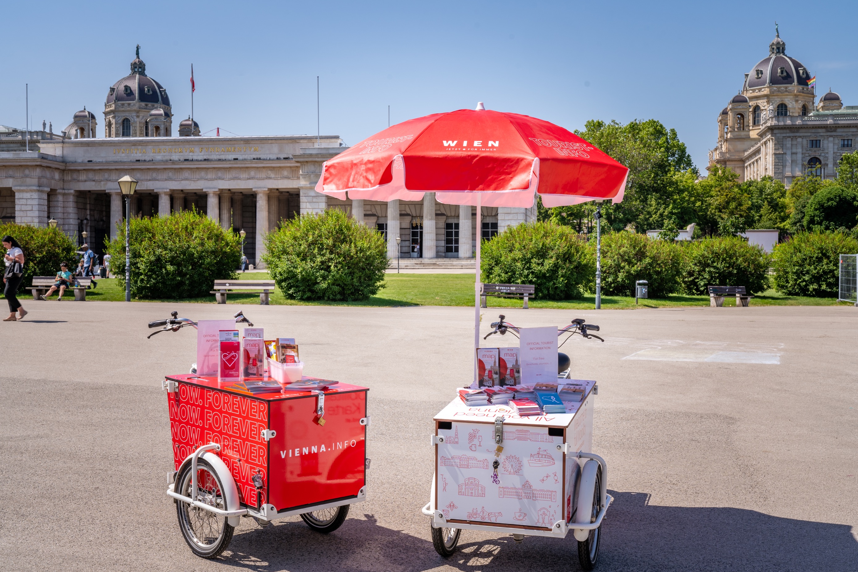
M253 325L241 312L235 317ZM176 312L149 323L162 327L155 334L186 326L196 322ZM252 394L195 368L166 376L163 388L174 465L166 494L197 556L221 554L242 516L266 526L300 515L330 533L350 504L366 499L367 388L305 377Z

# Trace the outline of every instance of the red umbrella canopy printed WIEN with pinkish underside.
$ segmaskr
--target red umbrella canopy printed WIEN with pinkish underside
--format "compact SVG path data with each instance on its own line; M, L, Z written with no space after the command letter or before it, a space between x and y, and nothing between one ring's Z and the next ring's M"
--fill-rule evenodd
M323 166L316 190L345 199L530 208L620 202L629 170L568 129L535 117L460 109L397 123Z

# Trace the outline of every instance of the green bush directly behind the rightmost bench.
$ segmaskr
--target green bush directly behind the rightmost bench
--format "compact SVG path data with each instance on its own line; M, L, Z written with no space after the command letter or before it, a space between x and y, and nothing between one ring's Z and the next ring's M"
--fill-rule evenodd
M708 294L708 286L745 286L749 294L769 287L770 257L740 237L706 238L682 245L683 291Z

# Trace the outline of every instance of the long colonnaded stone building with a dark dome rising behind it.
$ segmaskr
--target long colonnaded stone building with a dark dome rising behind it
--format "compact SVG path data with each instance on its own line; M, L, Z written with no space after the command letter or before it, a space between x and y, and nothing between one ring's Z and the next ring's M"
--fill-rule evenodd
M139 181L134 216L195 208L224 228L244 230L245 254L263 268L263 236L281 220L337 208L383 232L391 258L473 257L476 213L422 201L337 200L314 190L322 165L341 153L337 135L200 136L187 118L172 135L166 89L146 75L139 57L105 103L104 136L91 111L77 111L62 134L0 126L0 218L57 227L96 252L124 220L118 179ZM26 149L29 148L29 151ZM481 235L535 219L536 208L482 208ZM460 238L461 237L461 238ZM467 237L467 239L466 239ZM396 238L400 238L397 243Z

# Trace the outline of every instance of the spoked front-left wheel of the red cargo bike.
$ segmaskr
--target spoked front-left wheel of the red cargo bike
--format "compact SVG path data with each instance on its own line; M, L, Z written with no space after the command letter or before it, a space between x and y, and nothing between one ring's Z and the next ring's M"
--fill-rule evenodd
M176 491L184 497L192 495L191 473L190 463L188 463L176 479ZM227 503L224 501L222 491L223 484L215 469L202 459L197 461L195 500L226 510ZM181 501L176 503L176 514L178 528L182 531L184 541L198 557L220 556L233 539L235 528L227 522L226 516L215 515L206 509L199 509Z

